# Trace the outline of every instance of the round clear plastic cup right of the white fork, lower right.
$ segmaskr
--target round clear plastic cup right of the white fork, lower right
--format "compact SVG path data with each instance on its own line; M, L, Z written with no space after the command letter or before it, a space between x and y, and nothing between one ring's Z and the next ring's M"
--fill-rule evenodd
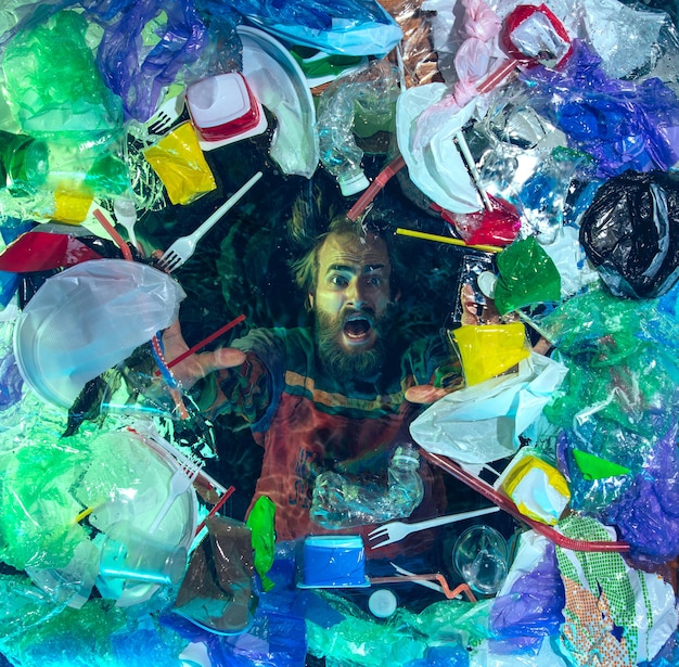
M509 572L507 540L490 526L471 526L458 538L452 562L473 591L494 595Z

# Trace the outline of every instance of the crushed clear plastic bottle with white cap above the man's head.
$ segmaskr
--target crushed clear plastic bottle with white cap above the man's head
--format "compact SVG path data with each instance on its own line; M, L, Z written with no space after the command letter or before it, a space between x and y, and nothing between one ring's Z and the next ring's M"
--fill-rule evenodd
M367 117L394 114L398 75L387 61L374 61L367 68L340 77L321 94L318 105L318 137L322 165L350 196L369 185L363 174L363 152L356 144L353 126L355 105Z

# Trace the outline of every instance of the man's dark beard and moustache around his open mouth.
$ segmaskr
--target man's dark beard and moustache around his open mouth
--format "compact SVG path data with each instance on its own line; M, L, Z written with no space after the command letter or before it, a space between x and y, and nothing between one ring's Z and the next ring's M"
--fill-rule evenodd
M340 337L347 319L360 312L375 332L375 342L370 348L357 348L347 351L340 345ZM346 383L368 380L376 375L384 365L387 352L388 333L396 320L394 303L379 318L372 309L357 311L353 308L342 310L337 316L316 312L316 347L323 369L335 380Z

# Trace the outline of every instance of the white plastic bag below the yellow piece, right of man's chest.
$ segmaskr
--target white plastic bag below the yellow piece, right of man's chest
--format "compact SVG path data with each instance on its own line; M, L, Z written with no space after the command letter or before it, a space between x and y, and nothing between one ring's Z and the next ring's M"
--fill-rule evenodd
M541 414L567 369L530 352L518 372L448 394L410 425L427 451L462 464L503 459L518 449L518 436Z

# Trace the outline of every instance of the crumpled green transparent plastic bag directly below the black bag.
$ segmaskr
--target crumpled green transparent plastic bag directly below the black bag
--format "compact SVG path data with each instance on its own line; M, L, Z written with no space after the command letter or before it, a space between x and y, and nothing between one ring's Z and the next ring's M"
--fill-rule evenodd
M563 303L538 328L569 371L563 392L546 407L552 423L569 428L574 420L597 414L649 436L652 413L676 411L677 322L656 302L592 288Z

